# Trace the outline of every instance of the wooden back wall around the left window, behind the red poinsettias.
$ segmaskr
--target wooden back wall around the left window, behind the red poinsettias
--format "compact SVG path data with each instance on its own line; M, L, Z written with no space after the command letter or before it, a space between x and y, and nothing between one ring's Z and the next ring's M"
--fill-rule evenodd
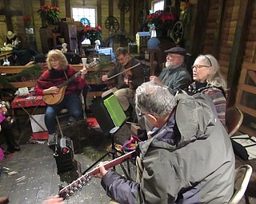
M38 0L0 0L0 11L1 13L7 14L7 16L10 16L10 18L6 19L6 24L8 25L7 29L13 30L15 33L18 34L22 39L22 43L26 45L27 43L27 36L26 36L26 30L24 26L24 22L22 20L22 17L24 14L30 14L32 16L33 21L31 26L34 27L34 45L36 45L36 49L38 49L38 52L42 52L42 43L40 39L39 29L42 27L42 19L38 16L38 9L40 8L40 2L42 2L44 5L53 5L53 2L57 2L57 5L60 8L61 12L61 18L66 18L66 14L70 14L70 10L66 10L66 3L69 4L69 1L67 0L58 0L58 1L51 1L51 0L44 0L44 1L38 1ZM119 0L70 0L70 8L72 6L94 6L98 9L100 19L97 19L98 26L102 26L102 40L106 40L107 37L109 37L111 33L108 29L106 29L105 22L108 16L113 15L114 18L117 18L119 23L119 30L118 33L125 33L126 37L130 37L132 39L135 38L135 33L138 32L138 14L135 14L135 11L138 12L139 10L142 10L142 7L139 6L145 6L150 5L149 0L145 1L129 1L130 2L130 10L126 13L122 12L118 8ZM54 5L53 5L54 6ZM28 9L29 8L29 9ZM9 15L10 14L10 15ZM135 25L136 24L136 25ZM135 26L134 26L135 25ZM31 39L30 39L31 40ZM114 41L116 46L120 45L118 44L119 38ZM2 45L1 45L2 46Z

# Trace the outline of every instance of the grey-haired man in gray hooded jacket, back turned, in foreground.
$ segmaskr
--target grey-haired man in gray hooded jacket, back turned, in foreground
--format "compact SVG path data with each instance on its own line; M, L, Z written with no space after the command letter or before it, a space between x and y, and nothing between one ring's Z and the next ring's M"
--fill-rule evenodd
M207 96L178 94L152 82L137 88L141 116L158 128L138 145L141 182L100 165L106 194L120 203L227 203L234 190L234 152Z

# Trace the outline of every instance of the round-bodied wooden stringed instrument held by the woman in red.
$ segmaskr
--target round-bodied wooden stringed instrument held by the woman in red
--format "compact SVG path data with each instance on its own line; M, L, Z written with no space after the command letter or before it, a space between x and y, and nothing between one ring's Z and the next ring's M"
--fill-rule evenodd
M98 61L93 61L89 65L87 65L87 68L90 68L96 65L98 65ZM80 74L81 74L81 71L79 71L78 73L75 73L72 77L70 77L64 83L59 84L57 86L59 88L58 93L46 94L42 96L42 100L44 100L46 104L50 104L50 105L61 103L65 96L67 84L69 84L72 80L74 80L74 78L78 77Z

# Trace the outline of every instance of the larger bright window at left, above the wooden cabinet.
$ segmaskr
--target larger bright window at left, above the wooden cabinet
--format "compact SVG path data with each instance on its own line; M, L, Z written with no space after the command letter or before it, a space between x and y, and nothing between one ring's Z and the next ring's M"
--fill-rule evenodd
M87 18L91 27L96 26L96 8L72 7L72 17L75 22L81 22L82 18Z

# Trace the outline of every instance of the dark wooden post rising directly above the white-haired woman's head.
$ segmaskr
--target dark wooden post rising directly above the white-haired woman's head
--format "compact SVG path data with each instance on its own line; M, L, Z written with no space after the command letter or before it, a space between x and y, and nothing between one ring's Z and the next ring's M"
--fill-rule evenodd
M225 14L225 8L226 8L226 0L220 1L220 6L218 8L218 19L217 19L218 26L217 26L217 29L214 29L214 41L213 41L213 49L212 49L212 54L217 59L218 59L221 36L222 36L222 23L223 23L224 14Z

